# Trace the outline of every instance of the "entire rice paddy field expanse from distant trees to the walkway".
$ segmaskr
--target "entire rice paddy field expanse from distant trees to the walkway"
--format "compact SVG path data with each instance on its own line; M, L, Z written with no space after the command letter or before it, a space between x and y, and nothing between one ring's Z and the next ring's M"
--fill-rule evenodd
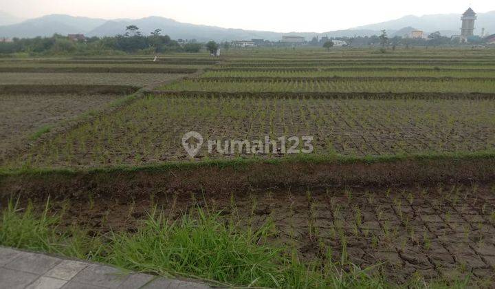
M0 197L20 196L21 212L50 199L67 214L58 231L110 247L109 232L136 236L157 208L194 235L183 218L200 208L214 217L195 220L260 234L243 246L283 256L247 272L263 262L238 250L222 268L239 270L213 274L150 249L131 270L221 286L493 288L494 59L460 48L1 58ZM282 138L296 153L231 142ZM203 249L195 259L216 251Z

